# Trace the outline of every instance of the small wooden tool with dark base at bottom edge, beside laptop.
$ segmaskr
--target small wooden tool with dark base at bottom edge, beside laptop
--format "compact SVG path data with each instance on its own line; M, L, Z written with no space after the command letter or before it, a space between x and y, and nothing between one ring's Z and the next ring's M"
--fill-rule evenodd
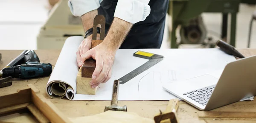
M179 123L176 111L179 107L179 98L169 101L169 104L164 112L154 116L155 123Z

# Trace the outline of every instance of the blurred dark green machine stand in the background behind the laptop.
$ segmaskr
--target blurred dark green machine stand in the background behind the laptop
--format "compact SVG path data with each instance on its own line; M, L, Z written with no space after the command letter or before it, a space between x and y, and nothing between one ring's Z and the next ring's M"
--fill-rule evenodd
M254 0L252 0L254 1ZM239 4L241 0L171 0L169 2L169 14L172 16L172 30L175 30L179 25L184 27L189 26L189 21L192 18L198 17L198 15L202 14L203 12L210 12L210 13L222 13L225 17L227 14L231 14L231 23L230 23L230 45L235 46L236 40L236 15L239 12ZM198 5L201 5L198 7ZM218 7L216 7L218 6ZM227 36L227 26L225 26L227 20L223 19L223 26L222 26L222 37ZM200 25L200 26L199 26ZM199 29L202 31L204 30L204 25L198 23ZM170 30L171 31L171 30ZM202 31L204 32L204 31ZM187 34L180 33L183 37L186 37ZM176 37L176 31L170 32L171 34L171 48L178 48L180 43L191 43L189 39L184 38L182 42L177 42L178 37ZM194 35L194 34L193 34ZM201 35L204 37L204 35ZM199 42L197 42L199 43Z

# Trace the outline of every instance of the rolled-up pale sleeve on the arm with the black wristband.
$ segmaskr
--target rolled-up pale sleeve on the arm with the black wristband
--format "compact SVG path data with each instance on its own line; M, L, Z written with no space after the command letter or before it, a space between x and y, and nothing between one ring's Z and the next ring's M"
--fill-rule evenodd
M81 17L83 14L88 13L99 8L99 0L69 0L68 6L74 16Z

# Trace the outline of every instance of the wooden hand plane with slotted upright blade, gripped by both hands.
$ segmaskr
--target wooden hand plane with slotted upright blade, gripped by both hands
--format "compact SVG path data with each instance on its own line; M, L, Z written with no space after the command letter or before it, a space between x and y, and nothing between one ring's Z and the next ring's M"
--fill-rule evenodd
M101 25L100 38L97 40L97 25ZM91 48L99 45L105 38L105 17L103 15L96 15L93 20L93 38ZM95 95L98 87L91 88L90 81L96 67L96 61L94 59L87 59L80 67L76 76L76 93L84 95Z

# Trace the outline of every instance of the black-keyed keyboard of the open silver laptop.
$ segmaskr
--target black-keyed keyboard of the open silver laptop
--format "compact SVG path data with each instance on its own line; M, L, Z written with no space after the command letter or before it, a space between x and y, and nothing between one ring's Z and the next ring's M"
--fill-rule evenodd
M191 92L186 92L183 93L183 95L186 95L188 98L191 98L192 100L204 106L209 101L209 98L211 97L212 91L214 90L215 86L216 85L212 85Z

